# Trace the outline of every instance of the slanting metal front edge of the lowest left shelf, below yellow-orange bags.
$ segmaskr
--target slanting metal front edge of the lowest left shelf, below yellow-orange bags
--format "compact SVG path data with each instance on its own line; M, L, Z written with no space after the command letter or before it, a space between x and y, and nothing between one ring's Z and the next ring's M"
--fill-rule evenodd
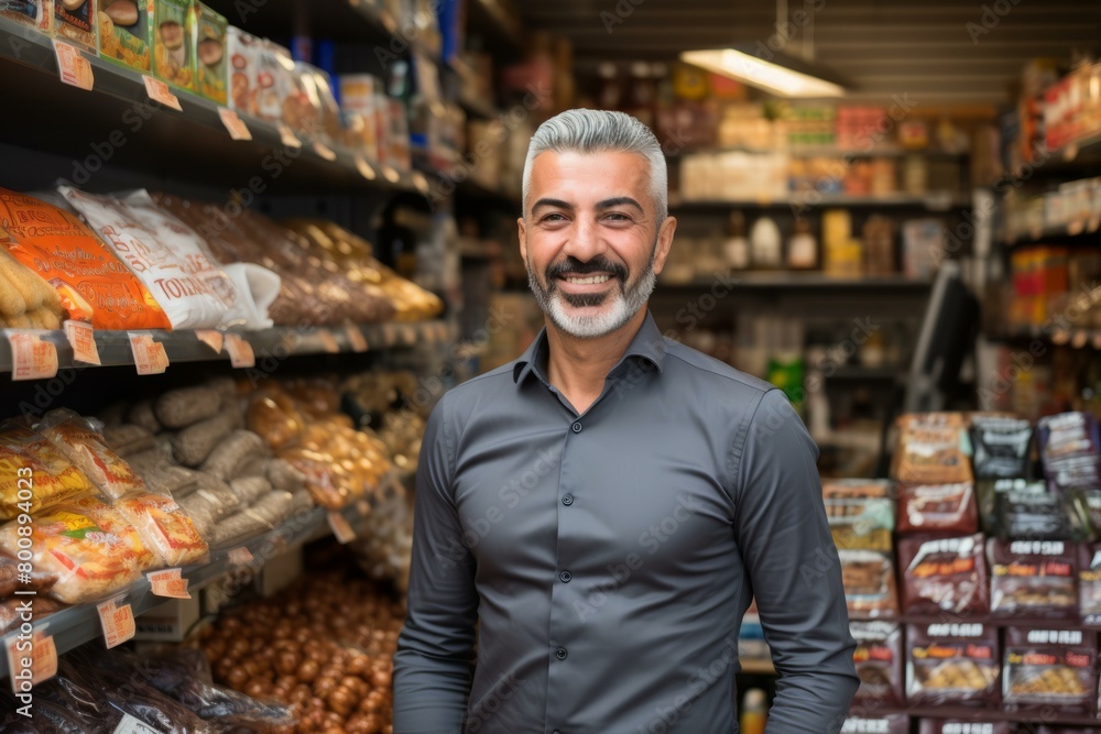
M358 503L339 511L353 530L358 530L360 521L370 512L370 508L361 508ZM331 530L328 515L328 511L315 507L305 517L292 517L268 533L249 538L231 548L211 551L207 563L182 569L182 577L187 579L187 591L197 591L237 567L246 567L253 572L259 571L272 557L329 535ZM241 548L248 550L248 554L239 550ZM240 560L242 558L243 561ZM17 599L33 600L34 596L17 596ZM130 604L135 617L170 601L151 593L149 580L144 577L110 599L117 600L119 604ZM35 620L33 626L36 632L41 631L54 638L58 655L102 636L96 603L74 604ZM19 631L14 631L0 636L0 644L4 649L8 642L18 634ZM8 658L6 655L0 655L0 680L8 673Z

